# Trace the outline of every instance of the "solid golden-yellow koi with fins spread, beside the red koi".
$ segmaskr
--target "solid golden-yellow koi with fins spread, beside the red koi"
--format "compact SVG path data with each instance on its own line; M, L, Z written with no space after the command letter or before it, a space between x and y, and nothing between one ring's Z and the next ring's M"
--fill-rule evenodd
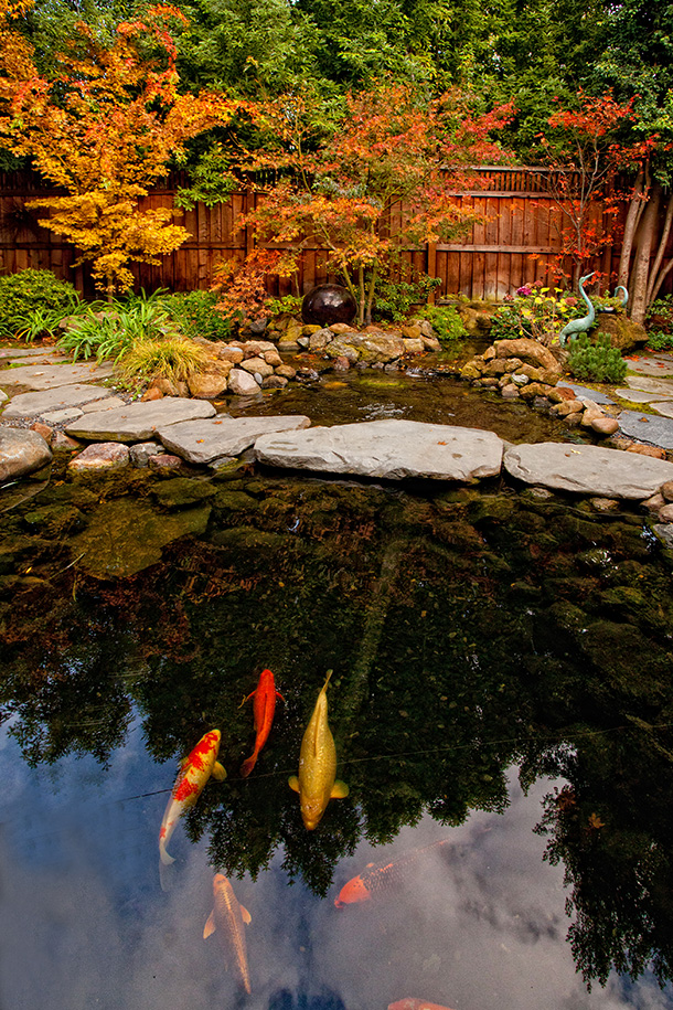
M290 789L299 793L301 817L309 831L318 827L330 799L349 795L349 787L342 782L334 780L336 747L328 726L327 695L331 676L330 670L301 741L299 777L291 775L289 778Z

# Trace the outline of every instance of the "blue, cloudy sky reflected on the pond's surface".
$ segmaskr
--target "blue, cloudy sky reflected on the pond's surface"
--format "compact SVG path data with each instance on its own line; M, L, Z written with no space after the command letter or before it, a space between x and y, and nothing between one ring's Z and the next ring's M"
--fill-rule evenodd
M213 875L205 839L190 844L179 826L171 889L160 890L157 832L174 766L152 762L140 723L107 769L68 757L39 773L7 729L3 1010L243 1006L220 947L202 938ZM543 862L545 841L533 833L544 795L560 783L538 780L524 796L515 768L509 780L503 815L478 811L457 828L426 816L389 846L361 843L338 865L324 900L300 882L288 886L281 853L257 881L234 881L253 919L246 1006L385 1010L418 996L455 1010L670 1007L670 991L647 977L629 987L612 976L606 989L586 991L565 939L563 867ZM367 863L446 838L451 844L426 853L404 884L334 907L341 886Z

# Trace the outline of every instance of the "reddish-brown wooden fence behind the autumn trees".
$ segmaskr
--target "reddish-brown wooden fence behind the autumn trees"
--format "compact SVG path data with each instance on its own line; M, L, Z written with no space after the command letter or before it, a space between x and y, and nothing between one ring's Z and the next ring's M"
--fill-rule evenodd
M562 243L562 213L547 187L544 170L531 168L481 168L483 189L457 192L459 208L479 217L460 241L407 249L406 262L417 270L439 277L438 296L466 295L468 298L501 299L526 281L551 281L548 262L558 256ZM141 210L173 205L179 180L170 178L141 201ZM26 201L47 191L30 174L0 173L0 274L26 267L51 269L71 280L79 291L90 295L94 287L86 267L73 268L74 247L46 228L40 227L40 212L29 211ZM51 191L50 191L51 192ZM137 287L154 290L165 287L182 291L209 288L213 269L222 258L243 257L253 246L252 233L241 227L242 215L263 199L234 193L214 208L199 204L193 211L174 209L173 219L191 234L191 240L160 266L135 264ZM399 210L396 212L399 213ZM599 234L608 221L600 204L591 209L592 225ZM623 220L623 215L622 215ZM391 227L395 228L395 214ZM616 228L619 234L619 221ZM324 248L307 248L299 270L299 290L306 293L328 279ZM592 264L609 276L619 259L619 245L607 247ZM566 270L570 263L563 264ZM269 278L271 294L288 294L289 281Z

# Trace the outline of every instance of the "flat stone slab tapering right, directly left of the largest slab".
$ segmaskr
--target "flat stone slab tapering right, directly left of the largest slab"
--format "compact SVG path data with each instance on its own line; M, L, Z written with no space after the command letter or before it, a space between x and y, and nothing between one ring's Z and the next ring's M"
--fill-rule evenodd
M278 417L228 417L220 414L202 421L184 421L157 435L167 449L177 453L188 463L209 464L223 456L239 456L260 435L274 432L293 432L311 424L303 414Z

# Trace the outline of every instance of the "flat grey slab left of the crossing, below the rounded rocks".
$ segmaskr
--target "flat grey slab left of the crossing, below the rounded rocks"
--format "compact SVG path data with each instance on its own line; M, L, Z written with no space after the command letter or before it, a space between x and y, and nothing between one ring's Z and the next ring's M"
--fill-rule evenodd
M164 396L147 403L129 403L117 411L84 414L68 424L65 432L72 438L89 442L148 442L160 427L212 417L215 413L213 404L205 400Z

